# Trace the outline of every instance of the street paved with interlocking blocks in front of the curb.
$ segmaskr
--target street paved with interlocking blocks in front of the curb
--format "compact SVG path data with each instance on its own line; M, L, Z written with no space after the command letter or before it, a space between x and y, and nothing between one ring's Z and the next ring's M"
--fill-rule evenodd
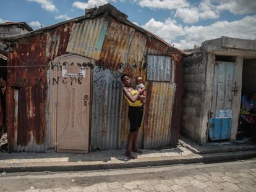
M2 173L0 191L256 191L256 160L65 173Z

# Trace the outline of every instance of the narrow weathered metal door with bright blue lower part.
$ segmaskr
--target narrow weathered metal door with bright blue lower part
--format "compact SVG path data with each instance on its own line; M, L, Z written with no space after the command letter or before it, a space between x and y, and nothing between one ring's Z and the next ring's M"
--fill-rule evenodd
M216 62L209 123L211 140L230 138L232 102L236 94L236 81L234 80L236 69L236 62Z

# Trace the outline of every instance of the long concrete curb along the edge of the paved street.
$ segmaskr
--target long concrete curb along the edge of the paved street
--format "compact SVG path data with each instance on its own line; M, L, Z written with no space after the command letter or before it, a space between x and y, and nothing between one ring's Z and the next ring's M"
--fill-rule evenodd
M256 151L220 152L214 154L191 154L182 157L152 157L128 162L37 162L20 164L0 164L0 172L64 172L85 170L125 169L193 163L235 161L256 157Z

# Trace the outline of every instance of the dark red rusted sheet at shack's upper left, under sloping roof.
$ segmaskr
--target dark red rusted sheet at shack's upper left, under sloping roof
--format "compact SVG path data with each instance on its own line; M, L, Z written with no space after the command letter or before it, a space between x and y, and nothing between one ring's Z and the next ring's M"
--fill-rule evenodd
M46 36L22 39L9 53L7 84L25 87L46 84Z

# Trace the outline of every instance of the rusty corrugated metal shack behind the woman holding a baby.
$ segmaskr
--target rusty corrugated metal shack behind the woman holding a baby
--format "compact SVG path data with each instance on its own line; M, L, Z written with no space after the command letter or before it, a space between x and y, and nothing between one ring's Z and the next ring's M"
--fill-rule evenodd
M146 81L139 148L178 143L184 52L110 4L4 40L13 49L7 69L9 151L126 148L122 73Z

